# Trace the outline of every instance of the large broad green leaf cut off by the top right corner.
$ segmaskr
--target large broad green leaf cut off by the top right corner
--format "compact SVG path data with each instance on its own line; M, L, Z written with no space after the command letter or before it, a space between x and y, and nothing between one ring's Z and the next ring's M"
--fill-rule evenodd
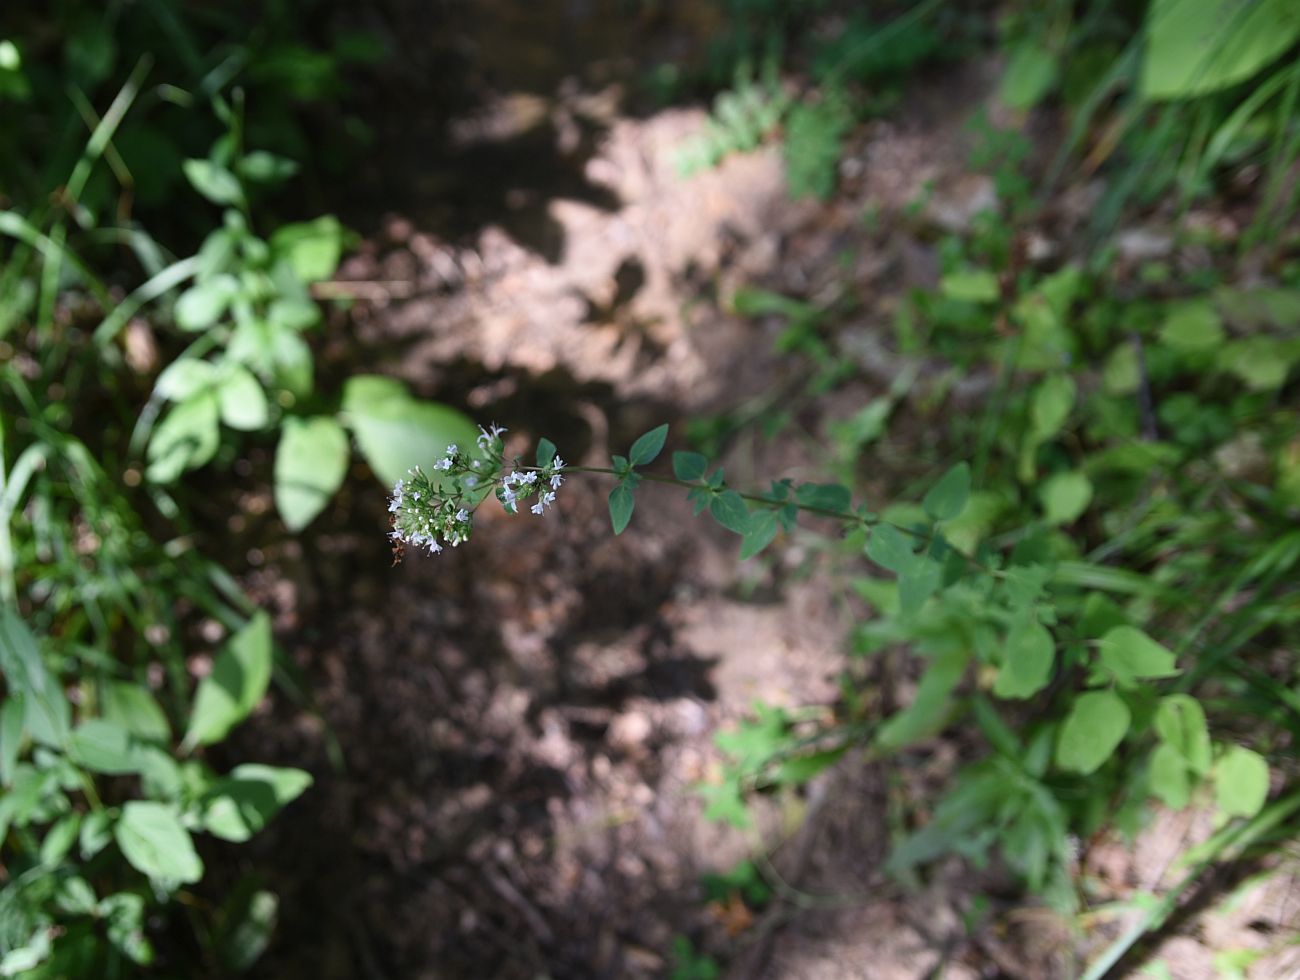
M1294 0L1152 0L1140 91L1187 99L1244 82L1300 38Z

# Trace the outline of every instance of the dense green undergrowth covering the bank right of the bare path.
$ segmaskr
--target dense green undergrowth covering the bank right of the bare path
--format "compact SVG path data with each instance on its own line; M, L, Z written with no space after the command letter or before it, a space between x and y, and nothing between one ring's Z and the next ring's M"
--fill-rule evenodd
M758 706L718 736L723 777L701 794L708 819L750 828L754 794L954 740L946 789L897 801L885 870L916 884L945 855L998 862L1069 923L1089 907L1084 842L1132 842L1156 807L1213 814L1174 884L1076 963L1100 977L1140 963L1212 868L1283 854L1297 825L1300 239L1286 174L1300 17L1218 0L1004 14L1000 122L972 120L972 165L997 204L962 233L922 231L940 276L892 313L894 383L826 425L823 464L841 482L706 504L745 558L818 539L796 504L838 515L842 533L811 554L864 616L833 721ZM786 173L792 192L826 196L828 147L864 103L826 81L803 91L783 117ZM1036 143L1031 123L1063 139ZM1030 256L1056 195L1088 179L1097 204L1078 231ZM1184 224L1192 208L1230 212L1236 230ZM916 227L923 211L870 221ZM1167 229L1167 244L1135 259L1115 235L1126 222ZM783 324L777 350L807 363L809 406L857 381L837 331L861 309L852 286L831 292L826 305L734 296L737 313ZM781 433L793 411L759 402L696 420L692 438L712 454L746 429ZM896 494L864 500L867 482ZM914 693L881 714L894 695L878 685L898 676Z

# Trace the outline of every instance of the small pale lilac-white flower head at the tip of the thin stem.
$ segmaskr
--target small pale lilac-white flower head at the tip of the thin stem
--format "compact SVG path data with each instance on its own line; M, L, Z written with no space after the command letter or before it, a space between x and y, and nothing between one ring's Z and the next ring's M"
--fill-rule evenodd
M469 539L473 530L473 512L495 489L497 499L510 513L519 512L519 503L536 495L529 508L541 515L555 503L555 491L564 477L564 460L554 456L546 465L515 469L502 476L506 468L504 443L499 425L478 429L474 441L480 455L471 458L452 443L442 459L433 464L428 474L419 467L399 480L389 498L393 515L393 541L398 559L404 547L422 547L430 555L442 551L443 545L455 547ZM554 447L551 447L554 452ZM543 456L538 458L541 461Z

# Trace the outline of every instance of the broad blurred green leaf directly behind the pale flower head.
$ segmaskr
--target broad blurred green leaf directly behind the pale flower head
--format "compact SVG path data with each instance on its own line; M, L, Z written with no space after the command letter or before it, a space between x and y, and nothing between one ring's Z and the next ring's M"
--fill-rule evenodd
M370 469L391 486L412 467L428 468L447 446L474 445L478 428L447 406L411 398L400 382L374 374L343 386L343 421Z

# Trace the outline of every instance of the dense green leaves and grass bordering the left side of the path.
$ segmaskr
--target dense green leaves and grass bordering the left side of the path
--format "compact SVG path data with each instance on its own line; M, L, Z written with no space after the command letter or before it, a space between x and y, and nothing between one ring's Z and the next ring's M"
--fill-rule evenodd
M296 532L354 443L391 481L473 435L390 378L316 383L350 233L278 214L356 151L311 152L311 114L376 42L302 12L69 3L0 34L0 976L257 961L278 899L229 849L313 777L225 743L273 681L311 697L209 556L213 504L269 482Z

